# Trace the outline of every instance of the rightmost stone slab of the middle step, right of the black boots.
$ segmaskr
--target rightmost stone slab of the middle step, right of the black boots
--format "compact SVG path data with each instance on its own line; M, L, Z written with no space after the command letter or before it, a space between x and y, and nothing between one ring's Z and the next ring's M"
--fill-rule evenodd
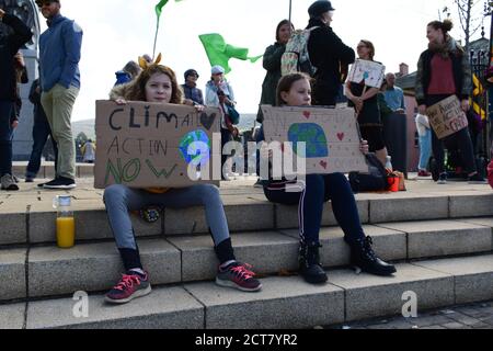
M408 258L431 258L490 251L491 229L457 220L422 220L380 224L408 234Z

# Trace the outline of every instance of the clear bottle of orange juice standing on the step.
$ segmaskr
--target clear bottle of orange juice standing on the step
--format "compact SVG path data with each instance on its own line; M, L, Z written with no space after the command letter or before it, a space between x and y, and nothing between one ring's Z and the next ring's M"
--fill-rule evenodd
M71 248L76 240L76 223L70 205L70 195L58 195L53 200L53 206L57 208L57 246L59 248Z

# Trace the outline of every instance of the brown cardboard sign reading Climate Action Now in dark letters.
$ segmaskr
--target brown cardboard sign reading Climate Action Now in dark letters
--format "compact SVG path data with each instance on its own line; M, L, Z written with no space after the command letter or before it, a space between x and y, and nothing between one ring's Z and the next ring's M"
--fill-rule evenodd
M214 166L220 169L220 115L219 109L197 112L186 105L96 101L94 188L115 183L131 188L218 184L211 179L213 161L219 162ZM217 139L219 147L213 147ZM192 166L196 170L199 163L199 172L192 173L195 178L199 173L202 180L193 181L188 170Z

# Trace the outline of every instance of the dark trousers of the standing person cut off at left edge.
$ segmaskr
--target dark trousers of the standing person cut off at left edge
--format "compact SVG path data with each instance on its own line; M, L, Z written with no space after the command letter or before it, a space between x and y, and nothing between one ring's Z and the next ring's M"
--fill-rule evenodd
M0 177L12 174L12 124L10 117L13 101L0 101Z

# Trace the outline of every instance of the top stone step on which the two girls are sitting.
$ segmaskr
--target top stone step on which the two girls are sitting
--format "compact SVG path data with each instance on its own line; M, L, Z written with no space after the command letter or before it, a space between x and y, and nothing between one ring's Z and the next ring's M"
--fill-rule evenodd
M297 206L273 204L261 193L230 194L221 190L229 228L234 231L259 231L298 228ZM56 212L51 206L54 195L66 192L32 193L28 200L0 194L0 246L54 242ZM102 190L73 193L77 240L113 238L102 201ZM364 224L411 222L493 216L491 191L463 191L451 195L443 193L358 194L356 196L360 220ZM208 227L203 207L167 208L160 220L145 223L133 215L136 235L193 235L206 234ZM323 212L322 225L335 225L329 202Z

